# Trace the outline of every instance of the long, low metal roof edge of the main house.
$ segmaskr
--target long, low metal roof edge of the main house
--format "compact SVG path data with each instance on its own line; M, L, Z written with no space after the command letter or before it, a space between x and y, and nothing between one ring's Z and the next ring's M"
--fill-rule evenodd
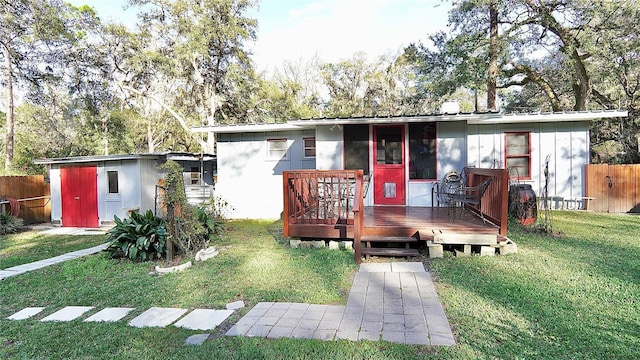
M626 110L593 110L593 111L565 111L565 112L535 112L535 113L457 113L457 114L419 114L385 117L339 117L339 118L310 118L293 119L284 123L217 125L192 128L192 132L215 133L244 133L266 131L289 131L314 129L318 125L347 125L347 124L397 124L411 122L443 122L466 121L467 124L511 124L526 122L565 122L591 121L603 118L627 117Z

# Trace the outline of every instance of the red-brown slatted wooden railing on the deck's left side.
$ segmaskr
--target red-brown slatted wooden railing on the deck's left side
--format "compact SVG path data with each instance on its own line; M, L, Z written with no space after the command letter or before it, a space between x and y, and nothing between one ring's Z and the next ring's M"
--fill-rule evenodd
M335 237L350 237L356 198L362 210L362 170L292 170L284 171L282 178L285 236L331 235L333 229L339 230ZM305 230L293 234L296 227Z

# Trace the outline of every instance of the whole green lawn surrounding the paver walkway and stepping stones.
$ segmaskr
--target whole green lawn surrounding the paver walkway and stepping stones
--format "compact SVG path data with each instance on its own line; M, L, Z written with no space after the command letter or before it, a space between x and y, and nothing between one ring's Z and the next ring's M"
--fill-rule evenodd
M126 321L6 320L27 306L46 306L47 313L67 305L135 307L128 320L151 306L222 308L244 300L247 308L230 318L233 323L260 301L345 303L357 269L351 252L291 249L278 241L279 223L238 221L216 244L223 247L217 257L186 272L153 276L151 263L98 254L0 282L0 358L640 357L640 218L553 214L554 229L562 236L511 227L509 237L518 244L518 254L445 256L429 262L458 342L454 347L266 340L219 333L201 346L185 346L185 339L198 332L138 329ZM11 238L2 239L0 260L13 256L9 248L20 248L5 245ZM89 247L96 240L87 241Z

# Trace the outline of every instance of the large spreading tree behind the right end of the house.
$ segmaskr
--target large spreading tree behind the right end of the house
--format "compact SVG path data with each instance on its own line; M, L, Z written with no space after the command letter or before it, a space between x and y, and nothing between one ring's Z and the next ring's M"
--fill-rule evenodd
M452 34L431 36L433 46L414 44L405 53L424 92L450 94L487 84L491 98L497 48L496 87L510 110L629 104L628 120L594 123L592 140L624 144L624 156L615 161L637 161L639 8L631 1L460 0L449 16Z

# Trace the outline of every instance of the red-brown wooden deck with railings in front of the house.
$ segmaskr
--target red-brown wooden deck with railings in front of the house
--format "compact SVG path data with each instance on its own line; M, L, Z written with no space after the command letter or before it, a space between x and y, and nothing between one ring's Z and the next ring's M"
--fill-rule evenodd
M507 233L508 171L467 169L465 186L474 187L490 178L482 201L463 208L364 207L362 170L283 171L284 236L298 238L353 239L355 260L382 252L373 243L416 243L464 234ZM454 213L455 211L455 213ZM480 214L488 219L484 223ZM492 225L496 224L496 225ZM400 239L404 237L404 239ZM362 242L367 249L362 251ZM405 249L408 249L406 247ZM401 253L399 250L393 252ZM390 253L390 252L389 252ZM404 255L404 252L402 252Z

